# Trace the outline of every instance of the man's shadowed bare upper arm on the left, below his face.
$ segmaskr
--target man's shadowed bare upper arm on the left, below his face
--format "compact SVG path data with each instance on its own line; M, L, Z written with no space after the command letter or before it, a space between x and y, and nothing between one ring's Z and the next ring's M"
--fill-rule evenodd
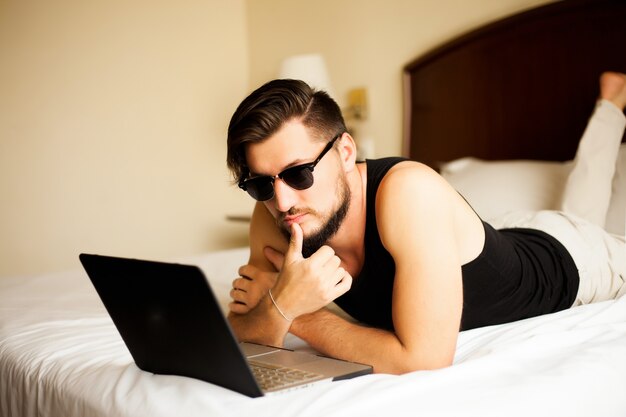
M285 252L289 242L281 233L274 217L263 203L256 203L250 220L250 259L248 263L258 267L273 269L263 254L263 248L270 246L280 252Z

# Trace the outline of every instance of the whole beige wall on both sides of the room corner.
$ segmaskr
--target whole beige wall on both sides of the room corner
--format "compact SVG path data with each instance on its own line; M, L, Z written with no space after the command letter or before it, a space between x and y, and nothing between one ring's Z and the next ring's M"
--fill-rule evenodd
M398 154L402 65L548 1L0 0L0 277L245 244L225 130L282 58L324 54L340 102L366 86Z

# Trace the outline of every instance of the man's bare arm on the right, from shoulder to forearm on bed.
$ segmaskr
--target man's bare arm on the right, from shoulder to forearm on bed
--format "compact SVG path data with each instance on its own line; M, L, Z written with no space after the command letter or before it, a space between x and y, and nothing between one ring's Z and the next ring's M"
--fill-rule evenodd
M452 364L462 312L459 210L467 207L423 167L397 170L377 196L381 240L396 263L395 332L347 322L327 310L301 316L291 332L329 356L375 372L404 373Z

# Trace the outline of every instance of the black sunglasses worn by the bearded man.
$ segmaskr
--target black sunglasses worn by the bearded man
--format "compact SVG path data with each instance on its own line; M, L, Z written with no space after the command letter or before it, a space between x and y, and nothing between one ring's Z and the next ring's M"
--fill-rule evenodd
M315 165L332 149L341 135L343 135L343 133L339 133L332 138L315 161L287 168L274 176L263 175L247 180L241 179L239 181L239 188L247 191L248 194L257 201L266 201L274 197L274 180L276 178L285 181L285 183L294 190L306 190L310 188L313 185L313 170L315 169Z

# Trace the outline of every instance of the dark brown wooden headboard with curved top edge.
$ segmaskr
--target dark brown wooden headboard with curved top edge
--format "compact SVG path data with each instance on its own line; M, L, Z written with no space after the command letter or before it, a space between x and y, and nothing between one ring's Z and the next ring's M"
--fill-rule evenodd
M626 72L625 0L564 0L474 30L404 68L404 156L571 159L606 70Z

